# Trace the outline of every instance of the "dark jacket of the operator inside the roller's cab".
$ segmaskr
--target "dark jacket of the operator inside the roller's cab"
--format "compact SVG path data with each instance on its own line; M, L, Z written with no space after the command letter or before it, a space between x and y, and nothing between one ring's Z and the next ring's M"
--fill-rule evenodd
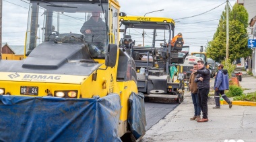
M85 31L87 29L90 29L92 31L92 34L86 34ZM84 33L88 42L91 42L87 39L90 36L93 36L93 42L102 42L106 39L106 23L104 23L101 18L99 18L96 22L91 17L88 21L84 22L84 25L81 27L80 32Z

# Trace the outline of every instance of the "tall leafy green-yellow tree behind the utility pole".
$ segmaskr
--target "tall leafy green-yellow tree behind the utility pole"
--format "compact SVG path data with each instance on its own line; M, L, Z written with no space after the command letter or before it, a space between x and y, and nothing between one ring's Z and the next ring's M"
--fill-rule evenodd
M236 58L251 55L251 49L247 48L247 10L242 5L235 3L233 9L229 9L229 13L228 57L232 62ZM226 9L220 16L218 28L214 33L213 40L208 43L206 52L207 56L219 62L226 57Z

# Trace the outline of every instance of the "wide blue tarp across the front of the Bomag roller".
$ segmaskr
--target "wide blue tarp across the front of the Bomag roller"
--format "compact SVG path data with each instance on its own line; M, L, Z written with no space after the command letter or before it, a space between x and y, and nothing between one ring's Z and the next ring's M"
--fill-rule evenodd
M0 141L121 141L118 94L98 98L0 95Z

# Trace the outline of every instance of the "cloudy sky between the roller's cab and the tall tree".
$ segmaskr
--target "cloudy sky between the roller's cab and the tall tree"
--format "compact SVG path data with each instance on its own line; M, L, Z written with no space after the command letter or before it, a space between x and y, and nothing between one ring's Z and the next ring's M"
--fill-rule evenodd
M127 15L144 15L150 11L164 9L164 11L148 13L146 16L170 17L174 19L176 21L175 35L179 32L183 33L185 46L190 46L190 52L199 52L200 46L206 46L207 41L212 40L218 26L218 19L222 11L224 11L225 2L226 0L119 1L121 11L127 13ZM222 5L222 3L224 4ZM230 5L233 6L234 3L236 3L236 0L230 1ZM213 10L210 11L211 9ZM205 13L206 11L209 12ZM192 17L194 15L199 16Z

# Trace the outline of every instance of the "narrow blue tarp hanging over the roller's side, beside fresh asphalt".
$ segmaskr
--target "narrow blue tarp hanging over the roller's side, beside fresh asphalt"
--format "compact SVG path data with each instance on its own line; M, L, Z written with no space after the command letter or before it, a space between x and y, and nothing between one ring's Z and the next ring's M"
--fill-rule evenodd
M146 113L143 94L135 94L133 92L129 97L129 104L128 123L135 139L139 139L139 137L146 133Z

